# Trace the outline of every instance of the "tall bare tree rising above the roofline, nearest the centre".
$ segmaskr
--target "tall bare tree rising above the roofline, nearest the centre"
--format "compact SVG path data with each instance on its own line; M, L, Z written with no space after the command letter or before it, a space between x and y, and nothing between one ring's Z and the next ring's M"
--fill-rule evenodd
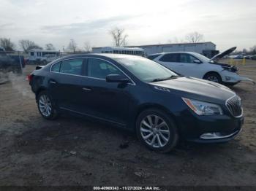
M121 28L113 28L110 31L110 35L113 38L113 42L116 47L124 47L127 45L127 34L124 34L124 29Z

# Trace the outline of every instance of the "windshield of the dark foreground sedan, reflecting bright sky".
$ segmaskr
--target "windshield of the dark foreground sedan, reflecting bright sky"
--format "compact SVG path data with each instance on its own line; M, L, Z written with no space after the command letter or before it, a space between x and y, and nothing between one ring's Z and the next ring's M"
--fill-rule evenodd
M135 77L143 82L157 82L161 80L177 77L178 75L159 63L148 60L146 58L118 58L118 63L121 63Z

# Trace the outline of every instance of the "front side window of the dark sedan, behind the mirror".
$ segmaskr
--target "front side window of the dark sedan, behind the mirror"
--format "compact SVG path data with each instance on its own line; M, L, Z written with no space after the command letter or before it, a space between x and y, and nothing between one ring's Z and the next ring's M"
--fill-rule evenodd
M112 64L106 61L93 58L90 58L88 60L87 73L88 77L95 77L100 79L105 79L105 77L109 74L124 75L121 71L119 71L119 69L117 69Z

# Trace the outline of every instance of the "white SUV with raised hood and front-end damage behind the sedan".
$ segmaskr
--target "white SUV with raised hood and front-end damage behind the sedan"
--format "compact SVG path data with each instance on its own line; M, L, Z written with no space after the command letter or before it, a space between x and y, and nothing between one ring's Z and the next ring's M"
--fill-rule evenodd
M220 58L234 50L236 50L236 47L219 53L211 59L196 52L162 52L148 55L148 59L156 61L183 76L207 79L223 85L236 85L242 80L252 81L247 77L239 76L236 66L218 63Z

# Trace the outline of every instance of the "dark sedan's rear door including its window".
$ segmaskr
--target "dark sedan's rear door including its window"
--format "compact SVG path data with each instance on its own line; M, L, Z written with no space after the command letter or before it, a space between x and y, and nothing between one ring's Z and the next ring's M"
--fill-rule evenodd
M83 58L56 63L50 72L50 93L61 109L79 111L83 78Z

